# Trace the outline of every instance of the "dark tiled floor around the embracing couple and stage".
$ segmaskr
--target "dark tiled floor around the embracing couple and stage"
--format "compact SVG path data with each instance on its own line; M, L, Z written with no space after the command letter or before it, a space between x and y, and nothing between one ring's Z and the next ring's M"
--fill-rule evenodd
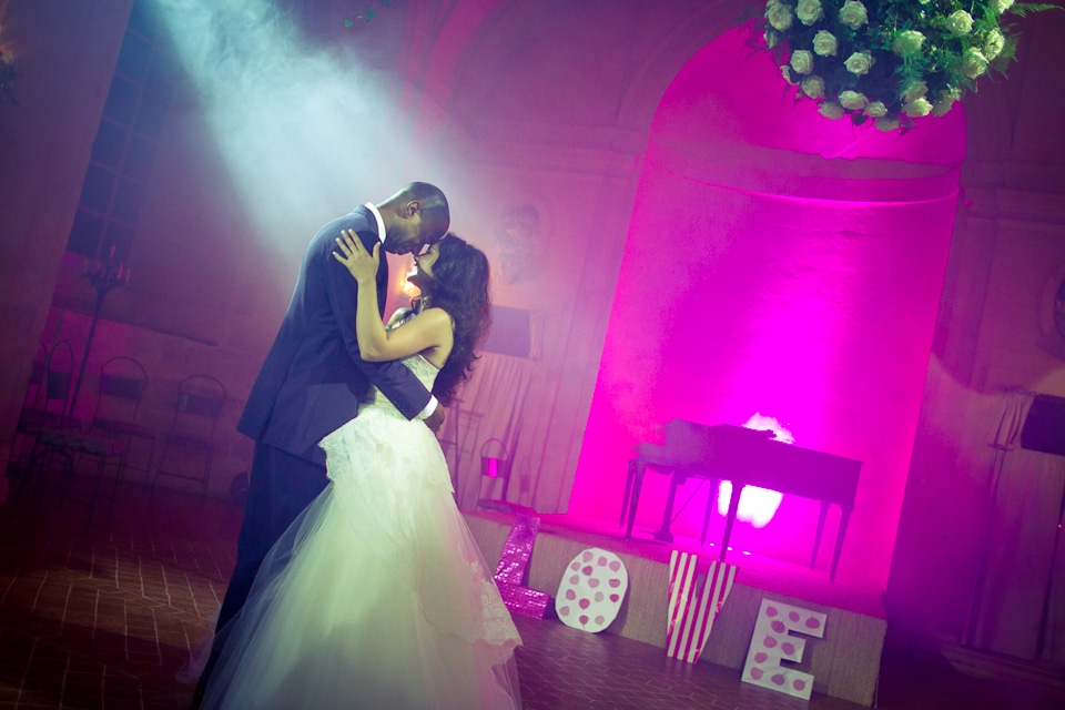
M239 507L126 485L114 518L32 498L0 510L0 710L181 710L178 679L215 611L233 562ZM10 515L9 515L10 514ZM814 694L808 703L739 680L739 671L666 658L659 648L558 621L517 617L518 668L530 710L687 708L856 710ZM1065 698L886 656L886 710L1049 710Z

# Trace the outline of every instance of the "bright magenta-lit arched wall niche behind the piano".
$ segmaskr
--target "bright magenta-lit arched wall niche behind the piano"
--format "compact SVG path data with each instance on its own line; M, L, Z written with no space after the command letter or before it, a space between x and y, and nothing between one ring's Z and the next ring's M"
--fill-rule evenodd
M823 130L812 105L749 101L752 85L772 97L780 79L768 57L743 61L743 40L727 33L693 58L651 128L570 513L617 519L631 445L670 418L739 425L761 413L799 446L864 462L840 576L882 589L963 116L919 123L905 140L842 122ZM722 72L739 75L721 85ZM647 480L637 527L653 529L666 480ZM674 534L698 537L694 485L678 498L694 495ZM772 523L739 526L733 542L804 562L815 516L814 503L785 497Z

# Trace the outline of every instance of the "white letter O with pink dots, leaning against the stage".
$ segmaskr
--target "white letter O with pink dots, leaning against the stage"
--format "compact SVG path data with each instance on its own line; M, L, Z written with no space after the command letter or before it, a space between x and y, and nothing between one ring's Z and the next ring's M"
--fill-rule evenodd
M621 610L629 574L609 550L591 547L570 560L555 595L555 612L575 629L601 631Z

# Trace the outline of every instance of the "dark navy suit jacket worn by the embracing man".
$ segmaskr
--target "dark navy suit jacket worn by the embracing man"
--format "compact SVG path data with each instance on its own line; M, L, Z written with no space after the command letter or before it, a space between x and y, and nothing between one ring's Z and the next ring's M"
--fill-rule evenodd
M323 226L303 256L281 331L255 379L237 430L270 446L325 464L317 444L355 416L371 384L407 418L429 403L429 393L402 363L367 363L355 337L358 286L333 256L341 230L355 230L373 252L377 221L365 206ZM377 303L384 313L388 265L381 250Z

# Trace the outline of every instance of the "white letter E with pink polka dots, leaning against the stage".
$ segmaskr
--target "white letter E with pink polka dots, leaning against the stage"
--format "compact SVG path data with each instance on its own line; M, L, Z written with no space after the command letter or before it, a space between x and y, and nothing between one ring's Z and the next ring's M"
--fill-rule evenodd
M798 662L807 640L789 631L821 638L824 636L825 615L791 605L762 599L754 621L754 636L743 666L743 682L771 688L795 698L810 699L813 676L787 668L780 661Z

